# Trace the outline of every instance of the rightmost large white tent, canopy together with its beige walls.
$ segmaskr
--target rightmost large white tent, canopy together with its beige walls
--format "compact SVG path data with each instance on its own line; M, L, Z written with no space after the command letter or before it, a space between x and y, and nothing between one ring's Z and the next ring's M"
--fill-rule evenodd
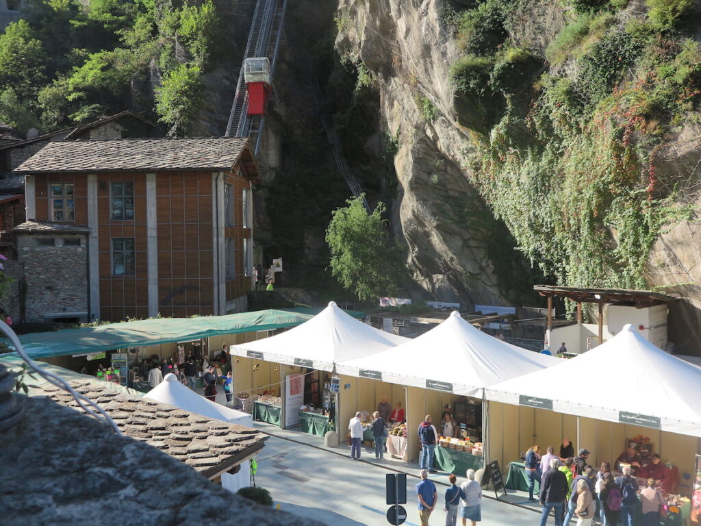
M606 389L572 389L572 377L596 378L605 371L620 372ZM497 437L494 457L502 465L520 459L533 443L557 446L569 437L575 451L590 450L590 464L613 466L642 436L641 452L659 453L669 473L679 473L670 493L690 495L701 437L701 367L658 349L630 325L576 358L489 386L486 398L489 432ZM506 423L517 437L503 432Z

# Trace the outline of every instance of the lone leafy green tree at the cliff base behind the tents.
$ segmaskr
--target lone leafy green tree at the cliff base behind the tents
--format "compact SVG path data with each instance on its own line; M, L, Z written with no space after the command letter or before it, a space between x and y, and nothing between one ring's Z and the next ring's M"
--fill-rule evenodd
M382 219L384 203L377 203L369 214L364 197L349 199L348 206L334 210L326 231L332 274L363 300L393 294L405 271L402 245L390 239Z

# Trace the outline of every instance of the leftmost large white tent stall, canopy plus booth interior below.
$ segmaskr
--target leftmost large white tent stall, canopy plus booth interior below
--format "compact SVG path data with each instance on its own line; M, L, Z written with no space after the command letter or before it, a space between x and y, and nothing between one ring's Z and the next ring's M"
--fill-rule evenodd
M301 431L311 433L338 427L342 440L350 419L346 419L346 411L355 414L365 409L372 414L376 401L359 403L356 393L349 392L352 391L350 384L343 381L339 382L339 393L333 393L331 381L335 364L407 341L407 338L358 321L330 302L327 308L294 329L230 346L229 352L234 356L235 390L242 389L243 385L237 382L241 381L240 377L246 377L250 368L258 379L245 379L250 386L244 389L253 391L255 386L265 386L268 392L280 393L283 413L280 426L299 425ZM374 395L374 389L372 393ZM338 402L351 394L352 403L347 410L341 410ZM303 412L306 414L301 414ZM337 426L339 417L341 424Z

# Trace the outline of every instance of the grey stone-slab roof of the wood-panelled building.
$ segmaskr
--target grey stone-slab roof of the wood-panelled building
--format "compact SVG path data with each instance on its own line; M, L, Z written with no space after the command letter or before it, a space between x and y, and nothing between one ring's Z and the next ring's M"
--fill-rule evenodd
M230 170L246 145L240 137L55 141L15 172Z

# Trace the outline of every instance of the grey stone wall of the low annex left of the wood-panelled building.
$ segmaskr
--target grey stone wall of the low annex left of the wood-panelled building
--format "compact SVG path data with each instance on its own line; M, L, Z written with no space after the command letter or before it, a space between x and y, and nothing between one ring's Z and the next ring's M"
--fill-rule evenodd
M76 239L80 246L66 244L67 240ZM50 240L54 246L42 245ZM84 234L20 234L17 248L26 283L24 321L43 322L46 315L74 318L76 313L88 312L88 250Z

